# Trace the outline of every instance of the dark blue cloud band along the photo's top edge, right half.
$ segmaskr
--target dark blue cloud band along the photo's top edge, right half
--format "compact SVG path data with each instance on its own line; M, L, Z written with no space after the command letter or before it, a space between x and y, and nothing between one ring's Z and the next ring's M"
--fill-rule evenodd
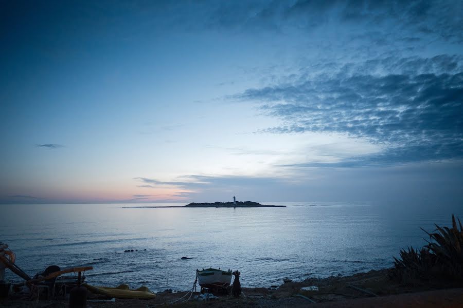
M419 33L434 35L443 40L461 42L463 28L458 1L268 1L207 4L200 9L209 11L203 17L209 28L270 29L281 31L288 27L315 30L331 23L349 27L349 31ZM365 27L367 26L367 27Z

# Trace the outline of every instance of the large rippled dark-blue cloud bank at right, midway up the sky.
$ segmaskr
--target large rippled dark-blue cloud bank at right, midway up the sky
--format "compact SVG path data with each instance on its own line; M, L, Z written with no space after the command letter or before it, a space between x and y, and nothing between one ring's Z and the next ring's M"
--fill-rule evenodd
M462 62L440 55L377 59L333 74L302 70L297 78L234 98L258 102L264 114L281 120L260 132L343 133L384 147L342 165L462 159Z

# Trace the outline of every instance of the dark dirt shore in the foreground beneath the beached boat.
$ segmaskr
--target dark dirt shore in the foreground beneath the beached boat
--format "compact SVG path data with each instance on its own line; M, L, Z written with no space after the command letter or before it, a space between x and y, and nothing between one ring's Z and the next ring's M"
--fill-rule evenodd
M301 287L316 286L317 291L302 291ZM278 288L242 288L239 298L218 295L218 299L207 301L175 300L186 292L157 293L155 299L115 299L105 300L100 295L88 296L87 307L288 307L316 305L320 307L463 307L463 286L446 283L421 283L400 285L389 280L387 270L370 271L346 277L324 279L309 278L299 282L283 283ZM185 298L188 298L186 296ZM316 303L316 304L314 304ZM11 308L26 307L67 307L68 300L30 300L20 296L10 296L0 300L0 306Z

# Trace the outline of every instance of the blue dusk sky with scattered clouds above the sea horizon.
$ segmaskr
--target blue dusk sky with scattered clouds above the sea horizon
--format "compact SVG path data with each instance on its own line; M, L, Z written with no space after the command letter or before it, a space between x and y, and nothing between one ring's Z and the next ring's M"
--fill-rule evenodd
M0 203L463 202L461 1L10 1Z

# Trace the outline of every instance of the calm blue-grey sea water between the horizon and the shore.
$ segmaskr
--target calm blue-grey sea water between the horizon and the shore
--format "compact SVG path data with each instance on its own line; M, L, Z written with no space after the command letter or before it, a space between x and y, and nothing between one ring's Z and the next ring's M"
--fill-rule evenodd
M243 286L270 286L286 276L303 280L389 267L400 248L425 244L419 227L449 225L452 214L359 203L265 203L288 207L0 205L0 241L30 276L52 264L92 265L88 283L187 290L197 268L220 267L239 269ZM455 214L463 217L462 210Z

